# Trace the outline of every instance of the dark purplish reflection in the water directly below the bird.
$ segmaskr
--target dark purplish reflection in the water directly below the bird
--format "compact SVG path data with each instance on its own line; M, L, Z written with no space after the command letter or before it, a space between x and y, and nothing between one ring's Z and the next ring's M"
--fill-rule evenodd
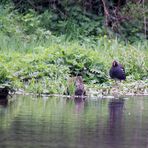
M113 99L108 104L109 118L107 127L107 140L110 148L116 148L123 145L124 140L124 100Z

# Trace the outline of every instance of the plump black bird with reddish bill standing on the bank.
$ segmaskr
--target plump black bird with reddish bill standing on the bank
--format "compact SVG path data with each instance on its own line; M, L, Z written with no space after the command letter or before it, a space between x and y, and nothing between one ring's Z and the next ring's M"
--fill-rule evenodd
M126 80L125 69L117 61L113 61L112 67L109 71L109 75L112 79L116 80Z

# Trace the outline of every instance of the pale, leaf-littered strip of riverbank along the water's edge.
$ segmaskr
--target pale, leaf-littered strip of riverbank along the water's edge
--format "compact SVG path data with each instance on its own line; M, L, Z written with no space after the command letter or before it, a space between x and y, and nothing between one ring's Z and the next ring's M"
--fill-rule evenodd
M148 82L146 81L135 81L128 83L120 83L114 85L113 83L110 86L86 86L86 96L84 98L89 99L113 99L113 98L125 98L128 96L148 96ZM18 89L15 93L16 95L33 95L41 97L62 97L62 98L77 98L74 94L64 95L64 94L48 94L48 93L28 93L22 89Z

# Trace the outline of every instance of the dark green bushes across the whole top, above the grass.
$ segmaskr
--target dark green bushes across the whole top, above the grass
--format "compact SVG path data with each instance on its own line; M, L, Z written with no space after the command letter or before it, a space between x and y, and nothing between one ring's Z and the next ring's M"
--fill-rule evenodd
M118 37L121 40L133 43L139 39L143 40L147 33L147 30L144 29L147 4L144 6L135 3L123 5L118 14L111 15L113 18L115 15L119 15L118 21L112 18L112 26L106 27L101 0L90 2L89 8L85 1L55 1L55 3L48 1L48 5L51 3L50 9L49 7L44 9L43 1L34 0L32 5L28 1L19 2L18 0L15 3L18 4L17 7L20 9L22 6L22 9L27 10L24 12L21 10L22 13L18 13L19 8L14 10L12 3L0 7L1 29L8 35L14 35L14 33L18 35L20 32L24 32L27 35L35 35L31 37L35 40L47 38L51 34L64 35L68 40L83 40L84 37L95 38L106 34L111 38ZM96 3L101 5L98 5L100 8L96 8L97 11L94 13L92 8L95 7ZM38 5L42 11L38 10ZM109 12L114 11L116 8L116 5L114 5L115 3L110 1L109 6L112 9L110 8ZM7 8L3 9L3 7ZM22 38L25 38L24 35L22 36Z

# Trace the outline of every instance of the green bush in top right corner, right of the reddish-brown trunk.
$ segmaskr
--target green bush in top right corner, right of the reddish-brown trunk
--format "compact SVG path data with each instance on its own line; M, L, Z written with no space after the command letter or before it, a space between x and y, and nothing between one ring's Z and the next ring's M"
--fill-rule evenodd
M147 9L147 3L145 5L128 3L122 9L122 14L128 18L128 21L124 21L120 28L123 38L130 40L130 42L144 39L148 32L147 28L144 28L145 23L147 23L144 18L148 17Z

